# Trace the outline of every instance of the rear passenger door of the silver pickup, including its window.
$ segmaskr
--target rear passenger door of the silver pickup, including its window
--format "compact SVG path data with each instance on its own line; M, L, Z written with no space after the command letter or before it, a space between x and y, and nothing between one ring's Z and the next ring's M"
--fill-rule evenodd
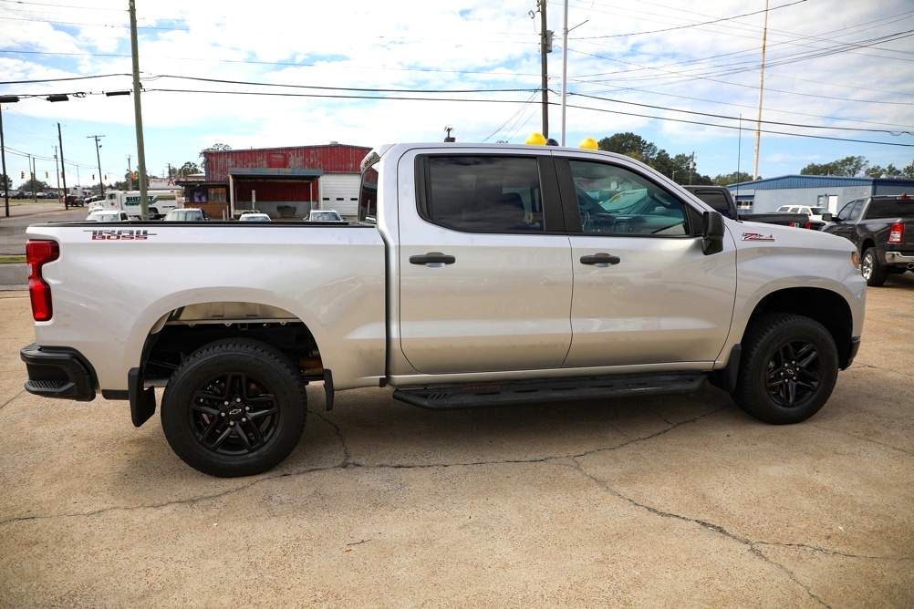
M551 156L474 150L400 160L402 352L420 373L559 368L572 266Z

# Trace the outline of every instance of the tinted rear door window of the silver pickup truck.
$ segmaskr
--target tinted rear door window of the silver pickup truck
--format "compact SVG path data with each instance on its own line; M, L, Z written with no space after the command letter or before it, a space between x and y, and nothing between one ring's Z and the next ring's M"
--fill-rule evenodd
M424 164L420 214L430 222L472 233L545 230L536 158L449 154Z

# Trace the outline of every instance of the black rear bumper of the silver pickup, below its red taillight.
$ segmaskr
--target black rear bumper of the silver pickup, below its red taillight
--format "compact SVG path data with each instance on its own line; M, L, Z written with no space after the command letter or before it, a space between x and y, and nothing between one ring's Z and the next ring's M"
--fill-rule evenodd
M29 394L78 402L95 399L92 367L75 349L40 347L33 342L19 351L19 357L26 362Z

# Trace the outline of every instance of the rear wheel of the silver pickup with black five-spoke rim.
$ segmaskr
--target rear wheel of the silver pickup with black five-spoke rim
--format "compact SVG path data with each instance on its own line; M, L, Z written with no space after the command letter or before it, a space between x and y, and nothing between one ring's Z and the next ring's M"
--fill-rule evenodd
M288 457L306 411L302 375L282 352L226 339L178 366L162 396L162 428L190 467L220 478L252 476Z

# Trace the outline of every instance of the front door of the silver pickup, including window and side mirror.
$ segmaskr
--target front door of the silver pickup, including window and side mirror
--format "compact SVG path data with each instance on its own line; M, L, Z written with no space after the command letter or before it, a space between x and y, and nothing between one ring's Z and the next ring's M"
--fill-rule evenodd
M705 256L703 210L633 164L572 158L557 169L574 274L565 366L715 361L733 317L733 245Z

